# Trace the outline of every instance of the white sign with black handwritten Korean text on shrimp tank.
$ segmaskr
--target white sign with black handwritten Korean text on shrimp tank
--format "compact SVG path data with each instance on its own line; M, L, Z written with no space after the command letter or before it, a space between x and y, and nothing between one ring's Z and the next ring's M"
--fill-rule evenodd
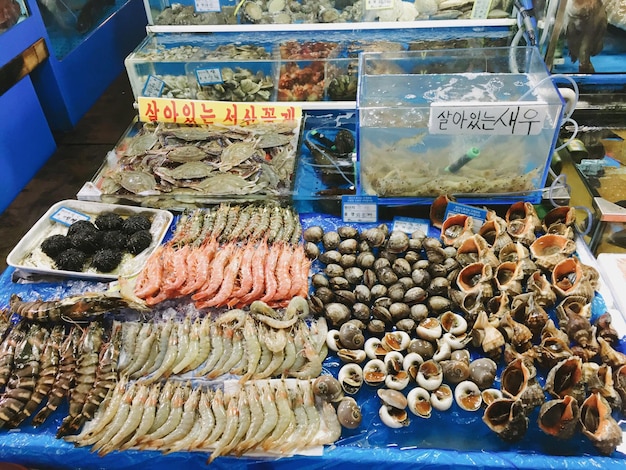
M542 103L432 103L428 130L431 134L537 135L547 115L548 107Z

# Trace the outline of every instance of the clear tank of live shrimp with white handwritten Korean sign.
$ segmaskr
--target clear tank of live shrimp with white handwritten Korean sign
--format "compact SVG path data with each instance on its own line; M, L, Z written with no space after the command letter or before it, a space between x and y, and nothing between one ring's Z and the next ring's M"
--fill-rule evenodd
M537 201L563 99L536 48L363 53L359 191Z

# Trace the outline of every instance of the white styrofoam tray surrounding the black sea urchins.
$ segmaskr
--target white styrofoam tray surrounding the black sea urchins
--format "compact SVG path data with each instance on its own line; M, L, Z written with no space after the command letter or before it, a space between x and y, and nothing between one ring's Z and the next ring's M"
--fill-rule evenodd
M66 234L68 226L51 218L59 209L68 208L90 217L90 220L108 211L113 211L122 217L134 214L144 214L151 221L150 233L152 243L148 248L136 256L125 254L120 265L110 273L98 272L93 268L85 271L64 271L56 269L53 261L40 249L41 242L50 235ZM172 223L173 215L169 211L150 209L145 207L123 206L118 204L105 204L99 202L65 200L54 204L48 211L31 227L22 237L19 243L7 256L7 264L27 273L37 273L51 276L72 277L90 280L115 280L118 277L130 277L136 275L146 263L148 257L159 246Z

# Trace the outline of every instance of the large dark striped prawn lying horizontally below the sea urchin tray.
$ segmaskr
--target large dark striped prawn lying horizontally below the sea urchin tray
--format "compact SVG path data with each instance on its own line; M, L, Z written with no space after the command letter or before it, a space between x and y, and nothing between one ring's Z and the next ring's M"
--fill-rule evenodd
M9 308L11 312L37 322L81 321L124 308L147 309L145 304L127 298L121 292L85 292L63 299L32 301L23 301L17 294L11 294Z

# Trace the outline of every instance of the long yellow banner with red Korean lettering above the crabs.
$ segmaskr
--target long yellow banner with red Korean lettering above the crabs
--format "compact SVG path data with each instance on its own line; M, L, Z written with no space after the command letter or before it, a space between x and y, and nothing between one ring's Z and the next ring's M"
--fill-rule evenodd
M137 101L139 119L144 122L245 126L261 122L294 121L302 117L301 108L274 103L230 103L143 96Z

